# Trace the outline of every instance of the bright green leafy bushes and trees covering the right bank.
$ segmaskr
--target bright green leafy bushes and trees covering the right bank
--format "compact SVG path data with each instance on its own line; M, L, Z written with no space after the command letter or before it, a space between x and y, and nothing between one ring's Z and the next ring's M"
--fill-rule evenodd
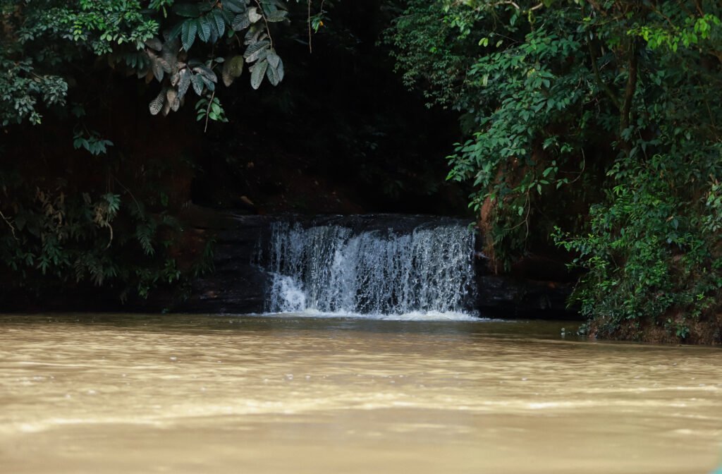
M713 1L413 0L391 32L406 82L464 114L449 178L474 184L487 252L508 264L532 230L566 228L599 335L651 324L700 340L696 322L718 324L721 14Z

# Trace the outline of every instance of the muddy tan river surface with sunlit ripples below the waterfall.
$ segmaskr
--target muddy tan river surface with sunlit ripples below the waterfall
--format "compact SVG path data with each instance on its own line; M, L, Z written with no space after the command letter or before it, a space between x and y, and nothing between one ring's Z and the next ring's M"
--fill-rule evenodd
M572 326L0 316L0 472L691 474L720 463L721 350L588 342Z

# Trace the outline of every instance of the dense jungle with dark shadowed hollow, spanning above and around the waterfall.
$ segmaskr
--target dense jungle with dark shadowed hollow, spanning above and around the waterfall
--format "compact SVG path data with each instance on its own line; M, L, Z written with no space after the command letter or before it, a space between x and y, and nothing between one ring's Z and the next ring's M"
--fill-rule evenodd
M568 252L587 331L722 342L721 10L0 0L4 297L183 288L212 270L191 202L463 214L471 193L491 271Z

